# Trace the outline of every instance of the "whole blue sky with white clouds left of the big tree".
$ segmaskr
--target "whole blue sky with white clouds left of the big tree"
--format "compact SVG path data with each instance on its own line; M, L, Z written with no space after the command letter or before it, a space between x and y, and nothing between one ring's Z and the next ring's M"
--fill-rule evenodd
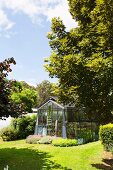
M44 69L51 54L47 33L53 17L60 17L67 30L77 26L67 0L0 0L0 62L14 57L17 63L9 79L30 85L57 82Z

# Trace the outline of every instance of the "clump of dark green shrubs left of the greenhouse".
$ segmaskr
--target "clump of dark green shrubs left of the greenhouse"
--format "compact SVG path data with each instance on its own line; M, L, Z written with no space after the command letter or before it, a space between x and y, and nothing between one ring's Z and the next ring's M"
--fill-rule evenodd
M3 128L0 136L3 140L25 139L28 135L34 134L36 116L26 116L12 119L11 125Z

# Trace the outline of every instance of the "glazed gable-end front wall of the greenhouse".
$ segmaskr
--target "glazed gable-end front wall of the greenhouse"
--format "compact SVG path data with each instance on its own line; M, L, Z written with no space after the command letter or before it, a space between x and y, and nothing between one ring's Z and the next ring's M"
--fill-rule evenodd
M38 111L38 125L42 127L39 128L40 133L47 135L59 135L62 133L62 109L49 102L42 106ZM46 128L46 129L44 129Z

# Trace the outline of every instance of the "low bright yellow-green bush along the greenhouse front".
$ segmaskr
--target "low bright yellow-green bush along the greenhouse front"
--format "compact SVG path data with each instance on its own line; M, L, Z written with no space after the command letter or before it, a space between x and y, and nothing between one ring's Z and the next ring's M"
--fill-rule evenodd
M59 138L59 139L53 140L52 144L54 146L60 146L60 147L76 146L77 140L76 139Z

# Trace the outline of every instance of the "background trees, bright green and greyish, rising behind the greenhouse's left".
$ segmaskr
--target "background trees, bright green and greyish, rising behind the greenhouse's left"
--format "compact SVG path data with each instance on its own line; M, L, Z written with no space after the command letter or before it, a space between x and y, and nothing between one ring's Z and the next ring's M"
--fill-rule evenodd
M33 107L42 104L50 96L54 96L56 85L47 80L42 81L37 87L28 85L24 81L14 81L11 90L11 100L20 106L22 112L32 112ZM17 111L19 107L17 107Z

